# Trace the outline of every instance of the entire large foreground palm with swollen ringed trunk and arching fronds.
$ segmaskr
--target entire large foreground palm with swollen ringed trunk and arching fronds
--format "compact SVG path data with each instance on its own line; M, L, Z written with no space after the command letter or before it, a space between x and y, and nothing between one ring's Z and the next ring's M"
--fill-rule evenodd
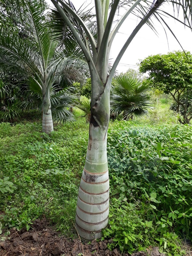
M164 14L169 17L171 15L159 10L159 7L167 2L166 0L153 1L152 3L150 1L142 2L141 0L116 0L111 3L109 0L95 0L97 21L97 39L95 39L89 27L67 2L62 0L51 1L58 11L56 17L58 20L62 18L66 22L76 42L81 47L89 65L91 75L92 96L89 142L79 188L76 228L78 233L84 238L93 239L100 237L101 229L108 224L109 179L107 164L107 130L110 118L110 87L114 72L125 50L140 28L145 23L153 28L153 24L150 22L151 16L154 15L159 21L166 25ZM171 1L171 3L175 7L175 12L182 11L184 13L182 16L184 17L184 22L186 26L190 27L192 13L191 0L176 0ZM128 10L126 10L124 15L117 22L115 28L112 29L116 10L121 5L126 5ZM130 13L138 16L140 22L135 29L133 29L123 48L117 55L112 68L108 72L109 52L113 39ZM74 17L78 25L74 25L68 16ZM57 26L57 24L55 26ZM57 26L57 28L59 30L61 26ZM60 35L62 35L62 32L63 29L60 30Z

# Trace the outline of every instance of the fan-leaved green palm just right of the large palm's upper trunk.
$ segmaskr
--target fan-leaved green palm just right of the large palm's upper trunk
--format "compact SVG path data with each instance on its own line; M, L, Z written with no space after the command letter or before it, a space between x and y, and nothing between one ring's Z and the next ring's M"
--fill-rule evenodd
M149 87L142 84L142 80L134 75L120 74L114 80L111 87L110 111L111 115L117 117L123 114L124 120L133 116L148 114L152 108L147 94Z

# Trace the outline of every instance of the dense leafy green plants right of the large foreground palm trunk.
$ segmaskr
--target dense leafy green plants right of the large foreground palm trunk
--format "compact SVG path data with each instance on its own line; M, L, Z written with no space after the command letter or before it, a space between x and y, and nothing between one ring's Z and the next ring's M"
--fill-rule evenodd
M129 206L140 202L140 210L135 210L131 216L143 219L143 223L152 223L149 243L164 244L167 255L182 255L182 252L179 247L174 249L175 243L168 243L168 238L165 241L165 236L169 239L177 235L192 238L191 129L180 125L138 127L131 122L127 126L121 121L115 122L108 132L111 193ZM120 214L119 222L123 218ZM123 231L119 231L118 223L114 225L118 227L115 237L120 239ZM126 233L129 231L129 227L122 227ZM172 234L172 230L177 235ZM145 232L142 235L148 234ZM132 249L138 247L138 239L132 241ZM148 240L140 239L142 248L149 245ZM120 249L126 244L126 241L119 244Z

